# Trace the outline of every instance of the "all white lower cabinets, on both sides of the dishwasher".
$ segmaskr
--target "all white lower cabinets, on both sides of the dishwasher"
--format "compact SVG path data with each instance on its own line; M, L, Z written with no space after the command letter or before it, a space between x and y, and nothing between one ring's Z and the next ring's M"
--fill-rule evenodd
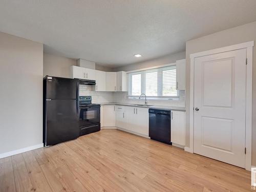
M118 127L119 129L148 137L148 109L123 105L101 106L101 127ZM185 145L185 112L172 111L171 141Z

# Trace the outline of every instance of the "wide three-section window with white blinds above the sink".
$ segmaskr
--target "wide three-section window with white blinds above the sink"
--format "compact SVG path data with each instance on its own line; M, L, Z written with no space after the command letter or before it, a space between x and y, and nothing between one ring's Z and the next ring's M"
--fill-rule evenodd
M145 93L151 98L178 97L176 90L176 66L129 73L129 96Z

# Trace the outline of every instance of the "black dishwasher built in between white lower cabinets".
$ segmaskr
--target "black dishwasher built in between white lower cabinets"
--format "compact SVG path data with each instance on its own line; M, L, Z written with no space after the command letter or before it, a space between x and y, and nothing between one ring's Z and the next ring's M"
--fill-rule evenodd
M166 144L170 142L170 111L148 110L150 116L150 138Z

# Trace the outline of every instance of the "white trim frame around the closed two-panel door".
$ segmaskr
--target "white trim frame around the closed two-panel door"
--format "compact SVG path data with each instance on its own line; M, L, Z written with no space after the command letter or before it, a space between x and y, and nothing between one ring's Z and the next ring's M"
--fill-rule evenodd
M246 117L245 117L245 169L251 170L251 135L252 135L252 48L254 41L243 42L241 44L222 47L218 49L203 51L190 54L190 106L189 106L189 146L185 146L184 150L194 153L194 62L196 57L202 57L211 54L223 53L239 49L246 49L247 65L246 65ZM187 143L186 143L187 145Z

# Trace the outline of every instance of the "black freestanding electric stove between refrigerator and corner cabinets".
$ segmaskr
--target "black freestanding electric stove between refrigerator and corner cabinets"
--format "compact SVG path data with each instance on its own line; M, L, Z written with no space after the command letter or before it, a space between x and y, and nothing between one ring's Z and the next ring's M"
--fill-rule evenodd
M92 96L79 97L80 136L100 131L100 104L92 103Z

